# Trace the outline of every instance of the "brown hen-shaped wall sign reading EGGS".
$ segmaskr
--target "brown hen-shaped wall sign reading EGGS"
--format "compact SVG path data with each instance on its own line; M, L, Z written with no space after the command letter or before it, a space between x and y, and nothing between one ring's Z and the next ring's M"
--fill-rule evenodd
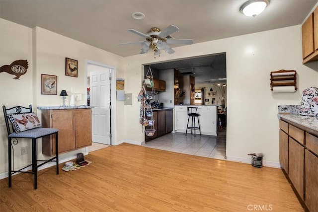
M19 77L26 73L28 69L27 60L17 60L12 62L10 65L3 65L0 67L0 72L7 72L8 74L13 74L15 77L13 79L19 79Z

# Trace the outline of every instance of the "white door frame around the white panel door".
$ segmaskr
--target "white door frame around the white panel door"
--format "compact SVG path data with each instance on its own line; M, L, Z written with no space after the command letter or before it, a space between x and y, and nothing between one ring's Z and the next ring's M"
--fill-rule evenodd
M110 110L110 133L111 133L111 139L110 139L110 145L114 145L117 143L117 103L116 103L116 68L113 66L109 66L106 64L98 63L95 61L91 60L85 60L85 85L87 88L87 77L88 77L88 70L87 67L88 65L94 65L94 66L99 66L103 67L106 69L111 69L111 82L110 82L110 105L111 105L111 110ZM86 93L86 99L87 99L87 93Z

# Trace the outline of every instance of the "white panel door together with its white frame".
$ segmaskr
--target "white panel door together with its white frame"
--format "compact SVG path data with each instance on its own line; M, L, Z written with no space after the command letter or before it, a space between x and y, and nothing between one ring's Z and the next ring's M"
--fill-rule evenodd
M116 142L116 69L86 61L87 105L92 107L92 142Z

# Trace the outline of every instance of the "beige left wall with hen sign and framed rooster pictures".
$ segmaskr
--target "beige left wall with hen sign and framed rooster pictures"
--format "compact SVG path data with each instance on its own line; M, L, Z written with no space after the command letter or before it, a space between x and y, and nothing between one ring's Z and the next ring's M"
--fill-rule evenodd
M63 104L59 96L62 89L68 94L71 91L86 94L86 60L116 67L118 77L124 78L122 57L108 53L101 49L89 46L79 41L64 37L51 31L35 27L33 29L0 19L0 66L9 65L15 60L27 59L29 68L26 74L19 80L12 79L14 75L6 72L0 73L0 105L11 107L15 105L27 106L32 104L33 110L40 116L41 111L37 106L58 106ZM65 58L72 58L79 61L78 77L65 75ZM41 74L57 75L58 95L41 94ZM68 99L69 103L69 99ZM83 98L77 105L86 104ZM118 102L117 107L123 111L123 103ZM119 110L119 111L120 111ZM122 126L122 112L117 114L118 126ZM123 140L123 134L118 135ZM7 171L7 135L3 120L3 113L0 113L0 175ZM38 142L39 158L46 157L41 153L41 140ZM27 155L21 155L20 148L28 146ZM60 157L68 157L84 149L62 154ZM14 145L14 167L18 168L31 161L30 141L19 139Z

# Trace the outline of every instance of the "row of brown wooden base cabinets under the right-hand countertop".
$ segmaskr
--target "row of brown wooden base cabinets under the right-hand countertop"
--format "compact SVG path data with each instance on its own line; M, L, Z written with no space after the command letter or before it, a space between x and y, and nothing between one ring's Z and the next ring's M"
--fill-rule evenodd
M318 132L285 119L279 126L281 166L309 211L317 212Z

